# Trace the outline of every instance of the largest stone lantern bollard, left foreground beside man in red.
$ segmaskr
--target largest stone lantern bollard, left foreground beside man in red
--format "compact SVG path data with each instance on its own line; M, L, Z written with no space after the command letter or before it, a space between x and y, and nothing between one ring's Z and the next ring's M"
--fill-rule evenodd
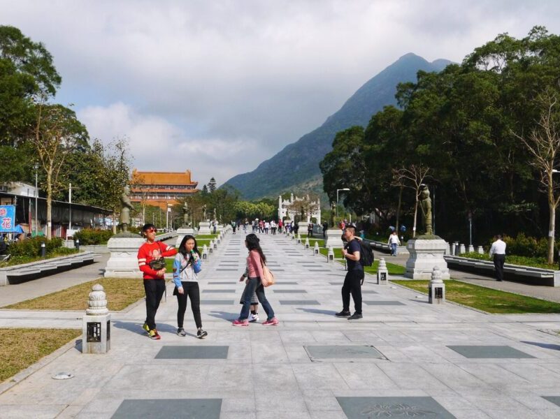
M106 353L110 349L107 295L101 284L92 286L82 323L82 353Z

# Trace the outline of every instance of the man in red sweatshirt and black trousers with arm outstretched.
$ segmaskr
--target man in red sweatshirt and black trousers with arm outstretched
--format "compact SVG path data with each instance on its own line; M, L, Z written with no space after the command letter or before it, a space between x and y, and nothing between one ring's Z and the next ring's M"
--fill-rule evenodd
M150 338L161 339L156 329L155 314L165 293L165 260L163 267L157 266L157 263L161 264L164 256L174 256L177 250L155 241L157 228L152 223L144 224L142 233L146 237L146 242L138 249L138 268L142 271L146 293L146 321L142 328L148 332ZM156 260L159 262L155 262Z

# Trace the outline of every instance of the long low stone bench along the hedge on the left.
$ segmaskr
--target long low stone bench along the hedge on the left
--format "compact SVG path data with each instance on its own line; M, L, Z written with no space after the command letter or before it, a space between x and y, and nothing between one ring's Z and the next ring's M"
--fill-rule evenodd
M76 253L70 256L60 256L58 258L36 260L22 265L0 267L0 286L8 284L20 284L48 275L57 274L66 270L76 269L84 265L94 263L99 254L89 252Z

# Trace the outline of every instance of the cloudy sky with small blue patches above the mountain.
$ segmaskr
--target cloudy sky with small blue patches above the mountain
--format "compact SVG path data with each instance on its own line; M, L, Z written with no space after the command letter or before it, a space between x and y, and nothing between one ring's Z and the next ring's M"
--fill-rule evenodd
M535 25L557 0L0 0L41 42L91 138L129 141L138 170L199 185L250 172L413 52L460 62ZM302 150L301 152L308 152Z

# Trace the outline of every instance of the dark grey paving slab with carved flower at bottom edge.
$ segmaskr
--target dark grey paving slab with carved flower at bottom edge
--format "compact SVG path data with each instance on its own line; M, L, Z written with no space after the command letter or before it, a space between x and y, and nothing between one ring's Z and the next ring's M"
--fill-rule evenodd
M455 418L431 397L336 397L336 400L348 419Z

